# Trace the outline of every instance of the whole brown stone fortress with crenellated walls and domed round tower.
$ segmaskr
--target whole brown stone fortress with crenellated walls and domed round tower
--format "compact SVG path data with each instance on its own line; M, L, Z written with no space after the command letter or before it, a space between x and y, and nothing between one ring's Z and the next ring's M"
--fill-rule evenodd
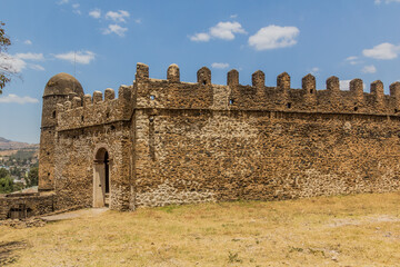
M381 81L367 93L360 79L341 91L337 77L317 90L311 75L291 89L286 72L273 87L262 71L252 86L240 85L236 70L227 86L213 85L208 68L197 82L179 73L171 65L167 80L151 79L138 63L117 97L112 89L84 95L73 77L52 77L36 198L56 210L132 210L399 190L400 82L387 96Z

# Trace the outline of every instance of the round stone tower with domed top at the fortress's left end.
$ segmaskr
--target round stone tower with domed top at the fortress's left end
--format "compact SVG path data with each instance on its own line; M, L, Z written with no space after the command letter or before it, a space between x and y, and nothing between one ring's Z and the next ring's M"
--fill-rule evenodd
M54 189L57 103L66 102L69 96L83 97L83 95L81 83L68 73L58 73L46 85L39 151L39 191Z

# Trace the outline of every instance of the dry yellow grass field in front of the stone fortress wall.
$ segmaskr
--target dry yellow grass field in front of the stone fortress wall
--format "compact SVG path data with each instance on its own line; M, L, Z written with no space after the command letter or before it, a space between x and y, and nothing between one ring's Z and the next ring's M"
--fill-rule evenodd
M400 194L106 211L0 227L7 266L400 266ZM12 260L11 260L12 261Z

